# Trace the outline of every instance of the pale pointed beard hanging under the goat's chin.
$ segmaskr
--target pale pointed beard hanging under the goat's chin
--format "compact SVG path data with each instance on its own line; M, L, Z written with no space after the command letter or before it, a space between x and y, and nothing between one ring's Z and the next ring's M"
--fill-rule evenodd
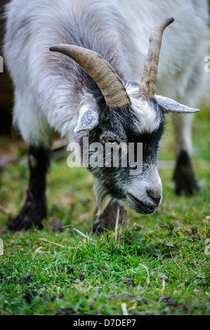
M107 189L101 185L100 181L97 179L95 179L93 191L96 196L96 202L98 205L98 211L96 215L100 216L105 208L112 202L113 197L110 196L110 194L107 192Z

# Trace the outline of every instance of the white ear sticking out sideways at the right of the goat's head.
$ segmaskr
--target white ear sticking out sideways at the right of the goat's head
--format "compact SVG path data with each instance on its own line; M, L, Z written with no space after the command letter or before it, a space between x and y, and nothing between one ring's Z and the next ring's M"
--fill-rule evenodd
M179 112L186 114L193 114L195 112L199 112L199 109L192 109L191 107L187 107L186 105L182 105L171 98L164 98L164 96L155 95L155 100L158 105L162 107L163 112Z

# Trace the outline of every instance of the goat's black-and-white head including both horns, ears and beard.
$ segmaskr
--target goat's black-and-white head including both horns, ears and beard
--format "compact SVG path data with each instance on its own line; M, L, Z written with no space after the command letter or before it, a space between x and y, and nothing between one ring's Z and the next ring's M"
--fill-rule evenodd
M152 31L150 49L140 84L122 81L98 53L72 45L52 46L75 60L96 82L100 97L83 102L74 133L88 135L88 143L116 145L143 144L143 168L137 175L131 167L90 167L96 178L95 191L100 211L111 199L122 199L138 213L152 213L162 201L162 183L157 171L157 150L165 127L165 112L197 112L185 105L155 95L157 66L164 29L173 18L162 20ZM83 132L83 134L81 134ZM119 154L120 154L119 152ZM89 157L91 152L89 152ZM105 154L103 154L103 164ZM138 150L134 159L138 161Z

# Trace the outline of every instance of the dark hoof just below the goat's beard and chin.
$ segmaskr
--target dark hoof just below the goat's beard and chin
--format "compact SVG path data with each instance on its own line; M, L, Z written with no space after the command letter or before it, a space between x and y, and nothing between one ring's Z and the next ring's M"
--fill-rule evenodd
M105 229L113 230L117 220L117 209L119 206L119 223L122 223L124 217L124 206L121 202L116 201L109 204L100 216L95 214L93 223L93 232L102 234ZM98 209L96 209L96 212Z

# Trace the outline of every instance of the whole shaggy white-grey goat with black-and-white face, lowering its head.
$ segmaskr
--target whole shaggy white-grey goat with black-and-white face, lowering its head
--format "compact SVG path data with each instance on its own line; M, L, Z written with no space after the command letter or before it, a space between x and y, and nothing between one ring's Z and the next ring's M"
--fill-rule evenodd
M176 192L198 189L190 164L191 118L183 113L199 111L191 107L204 81L199 52L206 0L11 0L5 15L13 123L29 144L30 172L27 200L9 230L42 227L52 130L70 142L88 137L103 145L143 143L139 175L124 167L90 169L98 202L95 230L110 227L118 207L122 217L119 200L138 213L153 213L161 203L157 150L167 112L181 113L173 119ZM171 15L175 22L162 41Z

